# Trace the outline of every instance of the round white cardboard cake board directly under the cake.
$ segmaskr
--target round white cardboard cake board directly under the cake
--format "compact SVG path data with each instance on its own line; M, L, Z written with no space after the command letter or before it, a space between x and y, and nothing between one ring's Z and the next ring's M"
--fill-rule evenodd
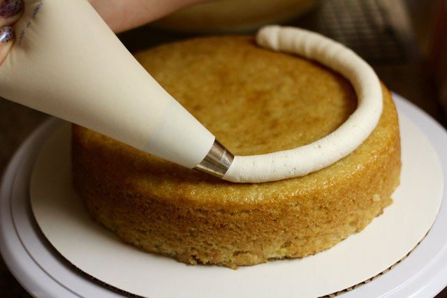
M362 232L317 255L237 271L189 266L122 243L91 221L71 184L70 133L65 124L39 154L31 204L54 248L86 274L142 297L321 297L387 271L418 246L443 198L441 163L425 133L400 113L401 185L394 203ZM393 271L392 271L393 272Z

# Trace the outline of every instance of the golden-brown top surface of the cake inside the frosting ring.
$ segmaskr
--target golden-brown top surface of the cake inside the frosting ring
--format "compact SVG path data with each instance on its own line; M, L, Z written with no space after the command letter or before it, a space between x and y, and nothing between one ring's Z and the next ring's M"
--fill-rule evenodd
M309 144L356 109L351 84L342 77L257 47L251 37L189 40L136 58L235 155Z

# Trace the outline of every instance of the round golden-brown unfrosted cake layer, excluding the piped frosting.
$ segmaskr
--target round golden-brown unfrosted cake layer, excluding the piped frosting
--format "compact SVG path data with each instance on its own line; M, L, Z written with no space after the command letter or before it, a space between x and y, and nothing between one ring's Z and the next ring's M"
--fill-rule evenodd
M211 36L135 55L233 154L293 149L356 110L351 84L312 61ZM363 230L400 181L395 105L352 154L304 177L236 184L73 125L73 181L94 221L125 242L188 264L231 268L304 258Z

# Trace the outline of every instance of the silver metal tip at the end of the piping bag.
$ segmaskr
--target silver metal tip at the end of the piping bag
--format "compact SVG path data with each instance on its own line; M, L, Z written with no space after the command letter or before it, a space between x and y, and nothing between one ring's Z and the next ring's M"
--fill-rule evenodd
M233 159L233 154L223 147L218 140L214 140L210 152L194 169L217 178L222 178L228 168L230 168L231 163L233 163Z

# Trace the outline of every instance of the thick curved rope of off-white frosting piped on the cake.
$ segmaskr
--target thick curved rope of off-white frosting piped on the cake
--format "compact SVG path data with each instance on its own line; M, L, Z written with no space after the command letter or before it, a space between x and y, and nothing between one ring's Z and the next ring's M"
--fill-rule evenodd
M381 84L372 67L355 52L318 33L293 27L263 27L256 42L317 61L340 73L353 85L358 105L342 126L316 142L270 154L235 156L222 179L258 183L304 176L351 154L372 133L383 108Z

